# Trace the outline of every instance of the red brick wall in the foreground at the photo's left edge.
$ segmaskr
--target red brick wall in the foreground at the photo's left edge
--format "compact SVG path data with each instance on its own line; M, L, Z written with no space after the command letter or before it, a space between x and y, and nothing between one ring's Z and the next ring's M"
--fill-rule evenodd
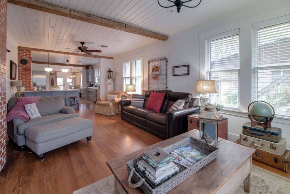
M0 0L0 171L6 162L6 33L7 0Z

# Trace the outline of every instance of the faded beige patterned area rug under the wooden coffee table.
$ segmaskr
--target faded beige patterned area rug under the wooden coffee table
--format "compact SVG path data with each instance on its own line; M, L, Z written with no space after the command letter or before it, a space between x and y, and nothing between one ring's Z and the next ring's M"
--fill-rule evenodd
M277 175L268 170L252 165L251 194L288 194L290 191L290 179ZM99 180L84 188L74 191L73 194L113 194L114 176ZM235 191L235 194L244 194L244 184Z

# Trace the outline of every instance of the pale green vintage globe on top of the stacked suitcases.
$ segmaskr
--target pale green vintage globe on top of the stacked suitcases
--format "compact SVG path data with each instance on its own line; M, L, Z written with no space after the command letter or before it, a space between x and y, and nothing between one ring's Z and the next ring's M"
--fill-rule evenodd
M263 101L252 102L248 107L248 112L256 121L265 121L266 118L274 116L273 107Z

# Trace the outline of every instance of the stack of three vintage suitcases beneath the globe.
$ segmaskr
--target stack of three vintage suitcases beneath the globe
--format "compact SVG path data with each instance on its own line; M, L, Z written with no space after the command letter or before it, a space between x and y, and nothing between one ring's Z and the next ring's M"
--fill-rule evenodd
M282 130L277 127L261 125L252 127L250 122L243 124L240 144L256 149L253 159L288 172L290 152L286 150L286 139L281 137Z

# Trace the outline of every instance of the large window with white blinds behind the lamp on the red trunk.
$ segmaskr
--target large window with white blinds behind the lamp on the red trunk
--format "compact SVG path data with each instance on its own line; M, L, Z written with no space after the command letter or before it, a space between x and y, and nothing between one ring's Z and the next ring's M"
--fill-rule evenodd
M239 29L206 38L206 80L215 80L216 94L209 103L240 109Z

